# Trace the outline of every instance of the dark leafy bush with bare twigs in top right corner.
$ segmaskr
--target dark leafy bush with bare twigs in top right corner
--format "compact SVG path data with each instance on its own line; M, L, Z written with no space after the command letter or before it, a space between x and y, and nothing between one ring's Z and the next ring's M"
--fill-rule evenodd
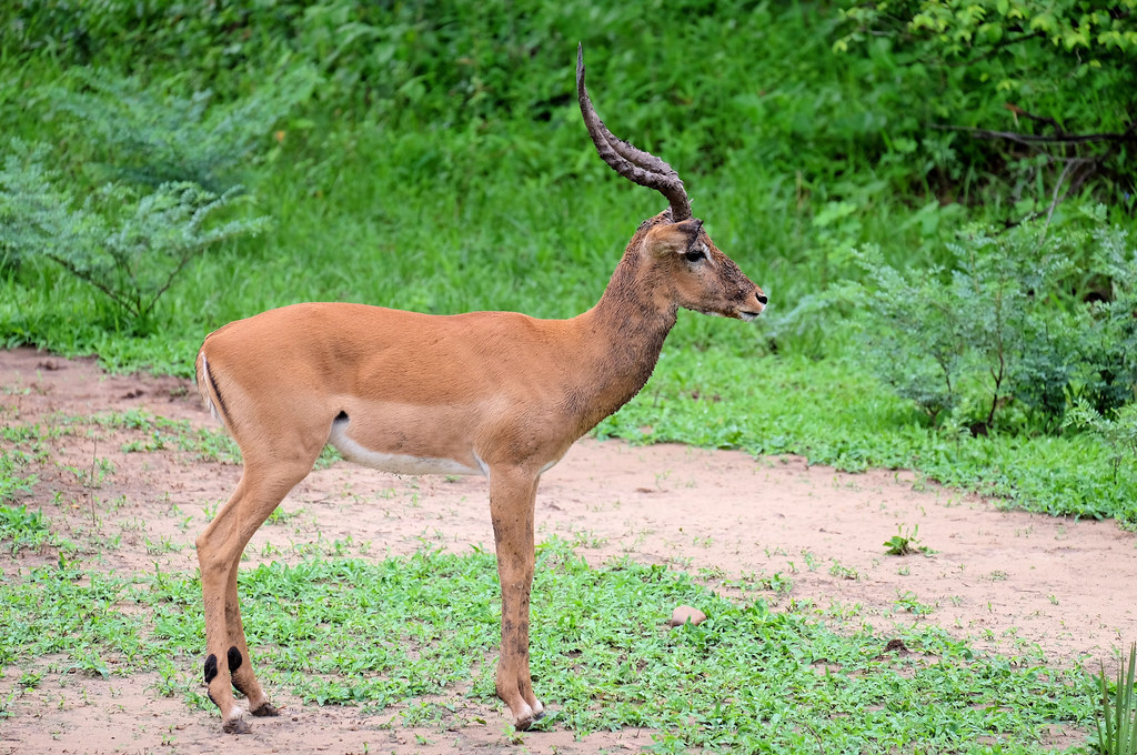
M840 5L835 49L905 69L893 96L916 117L889 139L927 160L937 192L994 186L1015 217L1086 188L1137 206L1137 1Z

